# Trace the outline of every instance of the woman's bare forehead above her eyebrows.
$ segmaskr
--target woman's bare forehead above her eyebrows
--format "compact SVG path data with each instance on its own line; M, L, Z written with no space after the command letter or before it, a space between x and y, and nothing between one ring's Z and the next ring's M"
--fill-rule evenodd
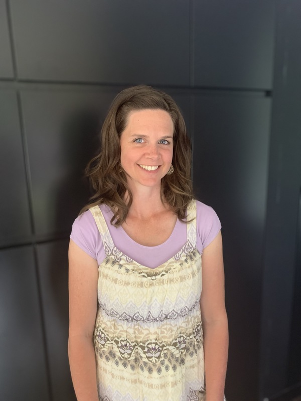
M170 114L161 109L132 110L128 113L125 130L140 127L162 127L174 131L174 123Z

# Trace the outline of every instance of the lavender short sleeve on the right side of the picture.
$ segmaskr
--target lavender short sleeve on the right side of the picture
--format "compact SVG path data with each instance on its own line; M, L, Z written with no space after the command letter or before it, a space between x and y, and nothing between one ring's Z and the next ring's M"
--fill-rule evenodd
M197 201L197 248L203 250L215 239L221 229L221 222L215 211Z

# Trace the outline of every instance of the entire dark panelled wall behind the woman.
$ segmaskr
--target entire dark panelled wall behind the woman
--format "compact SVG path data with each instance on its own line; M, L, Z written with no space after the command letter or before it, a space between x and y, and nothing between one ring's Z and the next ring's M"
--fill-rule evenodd
M222 223L227 397L258 399L259 377L262 395L284 388L300 171L298 4L0 0L0 248L14 246L0 251L1 399L75 399L68 236L90 194L83 171L99 149L109 104L121 86L138 83L165 88L180 106L193 142L195 192ZM268 319L280 327L276 334Z

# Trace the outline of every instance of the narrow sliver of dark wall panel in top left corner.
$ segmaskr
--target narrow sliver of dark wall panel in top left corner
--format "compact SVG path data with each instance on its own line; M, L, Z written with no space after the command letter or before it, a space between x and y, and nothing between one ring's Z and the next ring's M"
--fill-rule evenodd
M14 78L6 1L0 0L0 78Z

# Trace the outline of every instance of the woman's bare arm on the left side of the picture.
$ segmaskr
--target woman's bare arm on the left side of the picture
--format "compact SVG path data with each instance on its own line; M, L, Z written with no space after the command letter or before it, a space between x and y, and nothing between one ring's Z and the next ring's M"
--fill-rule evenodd
M78 401L98 401L93 331L97 313L97 261L69 245L68 354Z

